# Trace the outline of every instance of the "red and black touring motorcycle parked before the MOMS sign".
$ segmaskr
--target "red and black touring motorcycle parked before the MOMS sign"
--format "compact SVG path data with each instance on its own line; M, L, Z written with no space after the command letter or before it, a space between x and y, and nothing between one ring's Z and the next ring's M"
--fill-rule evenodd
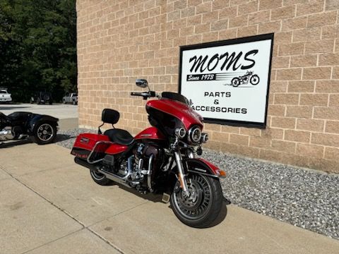
M147 80L136 80L148 87ZM78 135L71 151L75 162L90 169L92 179L102 185L111 181L141 193L163 193L162 201L171 203L174 214L189 226L210 226L222 208L220 178L225 172L204 159L201 145L208 140L202 133L203 118L191 109L188 99L174 92L131 92L146 103L146 128L134 138L125 130L113 128L103 134L104 123L119 120L119 112L102 111L97 134Z

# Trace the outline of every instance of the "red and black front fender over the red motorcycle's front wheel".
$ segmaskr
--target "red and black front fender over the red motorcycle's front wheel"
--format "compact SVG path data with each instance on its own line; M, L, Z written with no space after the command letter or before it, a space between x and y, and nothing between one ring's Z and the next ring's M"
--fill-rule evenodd
M226 177L225 171L219 169L214 164L206 161L206 159L201 158L185 159L184 164L186 164L186 169L189 172L210 175L218 178Z

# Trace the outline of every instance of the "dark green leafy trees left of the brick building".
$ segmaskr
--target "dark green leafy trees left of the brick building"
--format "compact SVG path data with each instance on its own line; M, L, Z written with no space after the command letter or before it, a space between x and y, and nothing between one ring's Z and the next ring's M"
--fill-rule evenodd
M0 86L16 101L76 90L75 0L0 0Z

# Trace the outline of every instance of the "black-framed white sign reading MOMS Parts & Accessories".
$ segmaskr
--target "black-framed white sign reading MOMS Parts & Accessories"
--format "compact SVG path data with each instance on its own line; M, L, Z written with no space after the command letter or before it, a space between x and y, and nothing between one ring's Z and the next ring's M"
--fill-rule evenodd
M266 127L273 34L180 47L179 93L207 123Z

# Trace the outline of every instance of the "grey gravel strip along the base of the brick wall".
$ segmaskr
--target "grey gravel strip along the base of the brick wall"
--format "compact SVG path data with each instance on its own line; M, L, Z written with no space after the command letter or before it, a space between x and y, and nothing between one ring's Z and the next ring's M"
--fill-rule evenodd
M58 145L71 148L78 133L59 131ZM339 175L237 157L205 149L204 159L225 169L225 198L234 205L339 239Z

